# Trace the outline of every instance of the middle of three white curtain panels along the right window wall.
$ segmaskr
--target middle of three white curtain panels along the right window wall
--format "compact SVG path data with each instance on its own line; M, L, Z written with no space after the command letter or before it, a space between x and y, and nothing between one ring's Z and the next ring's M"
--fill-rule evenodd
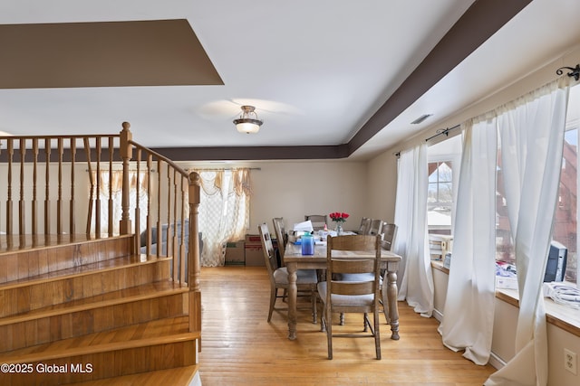
M453 351L486 364L491 353L495 301L497 120L462 125L454 245L440 334Z

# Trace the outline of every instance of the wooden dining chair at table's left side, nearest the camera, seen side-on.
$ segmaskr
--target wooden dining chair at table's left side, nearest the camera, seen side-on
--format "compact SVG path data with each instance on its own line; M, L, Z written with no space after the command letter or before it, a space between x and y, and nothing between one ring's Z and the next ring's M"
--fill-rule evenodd
M260 240L262 241L266 269L270 278L270 310L268 311L268 322L270 322L274 310L284 309L275 308L275 300L278 298L284 298L285 294L287 293L287 289L289 287L288 270L285 267L278 267L277 259L275 259L274 246L272 245L272 239L270 238L270 231L268 230L266 223L258 225L258 231L260 232ZM316 284L318 283L316 270L298 269L296 271L296 277L298 296L310 297L312 304L313 323L316 323L316 297L318 297L316 291ZM282 295L278 293L279 289L283 290Z

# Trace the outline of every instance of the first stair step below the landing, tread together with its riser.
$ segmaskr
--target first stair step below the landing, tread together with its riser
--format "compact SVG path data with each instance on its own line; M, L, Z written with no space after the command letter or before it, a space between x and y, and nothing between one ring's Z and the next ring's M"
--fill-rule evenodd
M130 255L0 285L0 317L169 278L170 258Z

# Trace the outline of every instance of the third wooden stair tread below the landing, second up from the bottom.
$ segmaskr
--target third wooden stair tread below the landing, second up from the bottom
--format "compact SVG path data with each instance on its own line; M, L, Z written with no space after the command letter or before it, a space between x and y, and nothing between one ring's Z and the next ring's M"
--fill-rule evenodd
M199 333L189 333L189 318L184 315L1 353L0 362L43 362L92 353L179 343L199 337Z

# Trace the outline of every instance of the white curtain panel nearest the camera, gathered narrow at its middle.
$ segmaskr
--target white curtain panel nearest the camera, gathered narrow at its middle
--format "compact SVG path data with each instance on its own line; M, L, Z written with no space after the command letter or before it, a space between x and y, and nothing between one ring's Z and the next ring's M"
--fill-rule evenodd
M568 88L556 80L498 108L507 217L516 252L516 355L486 385L546 385L542 282L556 210Z

